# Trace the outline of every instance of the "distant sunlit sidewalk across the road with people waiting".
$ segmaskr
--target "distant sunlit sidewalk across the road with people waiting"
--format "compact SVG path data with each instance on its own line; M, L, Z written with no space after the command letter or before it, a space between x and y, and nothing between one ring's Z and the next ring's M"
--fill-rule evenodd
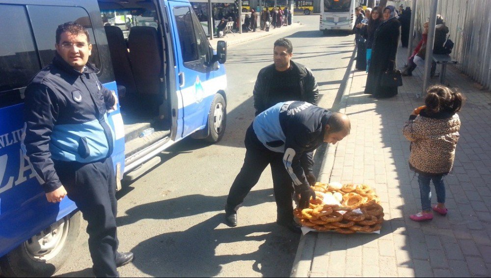
M276 35L279 38L279 35L281 33L284 33L286 31L291 31L293 28L299 28L301 25L302 24L299 22L292 22L292 25L289 26L282 26L280 28L271 27L269 32L263 31L261 30L261 28L257 28L255 32L243 32L242 34L240 34L239 32L229 33L221 38L214 37L213 40L208 39L208 41L210 42L211 46L215 49L217 47L217 42L219 40L226 41L227 46L231 46L231 45L243 43L246 41L250 41L270 35Z

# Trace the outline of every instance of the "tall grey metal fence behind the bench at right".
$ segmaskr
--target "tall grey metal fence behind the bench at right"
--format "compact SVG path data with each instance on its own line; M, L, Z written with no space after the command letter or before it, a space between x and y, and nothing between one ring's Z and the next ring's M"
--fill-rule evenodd
M430 16L431 0L418 0L415 30L421 33ZM491 10L490 0L439 0L438 13L443 16L455 43L451 56L462 64L456 67L491 88Z

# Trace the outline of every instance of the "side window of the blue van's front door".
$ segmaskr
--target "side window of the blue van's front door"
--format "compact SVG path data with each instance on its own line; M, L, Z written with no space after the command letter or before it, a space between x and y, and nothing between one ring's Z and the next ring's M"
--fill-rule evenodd
M196 61L198 60L198 51L191 18L191 8L175 7L173 11L179 32L183 62Z

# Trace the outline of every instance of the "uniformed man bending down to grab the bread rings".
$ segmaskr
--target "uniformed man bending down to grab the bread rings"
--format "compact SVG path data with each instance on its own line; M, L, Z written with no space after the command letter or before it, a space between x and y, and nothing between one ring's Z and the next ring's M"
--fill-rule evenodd
M292 195L300 194L301 208L308 206L310 188L305 169L311 167L306 154L323 142L336 143L351 130L345 114L330 112L308 102L280 102L256 116L246 132L246 158L235 178L225 205L225 222L237 225L237 210L256 185L264 169L271 165L273 190L277 205L276 223L294 232L300 226L293 221Z

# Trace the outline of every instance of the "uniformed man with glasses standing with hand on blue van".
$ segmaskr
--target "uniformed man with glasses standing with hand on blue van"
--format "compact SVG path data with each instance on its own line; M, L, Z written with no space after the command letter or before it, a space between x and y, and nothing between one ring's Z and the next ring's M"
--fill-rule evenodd
M55 48L53 62L26 89L26 156L49 202L68 195L82 211L94 274L118 277L116 267L133 253L117 251L114 131L107 118L117 98L87 63L92 45L85 28L58 26Z

